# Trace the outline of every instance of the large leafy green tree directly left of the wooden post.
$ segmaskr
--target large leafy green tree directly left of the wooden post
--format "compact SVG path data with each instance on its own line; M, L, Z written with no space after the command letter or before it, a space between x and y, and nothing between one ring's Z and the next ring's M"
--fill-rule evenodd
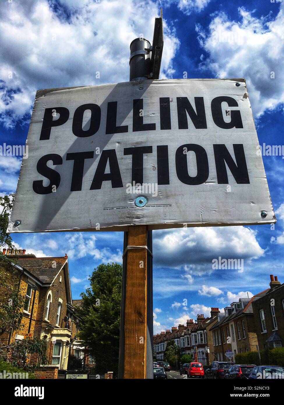
M117 373L122 266L117 263L100 264L90 277L90 288L81 294L83 304L78 314L79 336L85 341L87 352L94 356L96 374Z

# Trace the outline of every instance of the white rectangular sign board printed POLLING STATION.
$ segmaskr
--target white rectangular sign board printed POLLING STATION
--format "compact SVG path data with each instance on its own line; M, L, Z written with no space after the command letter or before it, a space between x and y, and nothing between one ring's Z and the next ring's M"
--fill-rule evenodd
M9 232L274 223L244 79L36 93Z

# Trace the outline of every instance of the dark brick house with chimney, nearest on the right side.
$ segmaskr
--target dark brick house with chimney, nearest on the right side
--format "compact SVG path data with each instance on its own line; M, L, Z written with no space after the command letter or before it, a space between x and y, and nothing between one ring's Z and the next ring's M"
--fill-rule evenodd
M269 286L252 303L260 350L284 345L284 284L270 275Z

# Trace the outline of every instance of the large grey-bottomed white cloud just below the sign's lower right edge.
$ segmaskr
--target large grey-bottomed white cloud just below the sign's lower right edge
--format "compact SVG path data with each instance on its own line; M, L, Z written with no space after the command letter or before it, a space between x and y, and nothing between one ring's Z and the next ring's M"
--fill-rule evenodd
M219 256L250 262L264 254L256 231L243 226L230 226L229 230L228 227L156 230L153 243L156 266L184 266L188 275L212 272L212 260Z

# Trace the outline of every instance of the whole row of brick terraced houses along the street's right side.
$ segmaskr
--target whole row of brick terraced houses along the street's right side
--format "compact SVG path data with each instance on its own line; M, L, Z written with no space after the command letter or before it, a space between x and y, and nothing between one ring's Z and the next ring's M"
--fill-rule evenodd
M181 347L182 354L191 354L192 359L203 365L212 361L230 361L226 352L256 351L284 345L284 284L277 276L270 275L269 288L252 298L239 298L220 312L211 308L210 317L197 315L196 322L188 320L154 335L154 356L164 358L169 341Z

